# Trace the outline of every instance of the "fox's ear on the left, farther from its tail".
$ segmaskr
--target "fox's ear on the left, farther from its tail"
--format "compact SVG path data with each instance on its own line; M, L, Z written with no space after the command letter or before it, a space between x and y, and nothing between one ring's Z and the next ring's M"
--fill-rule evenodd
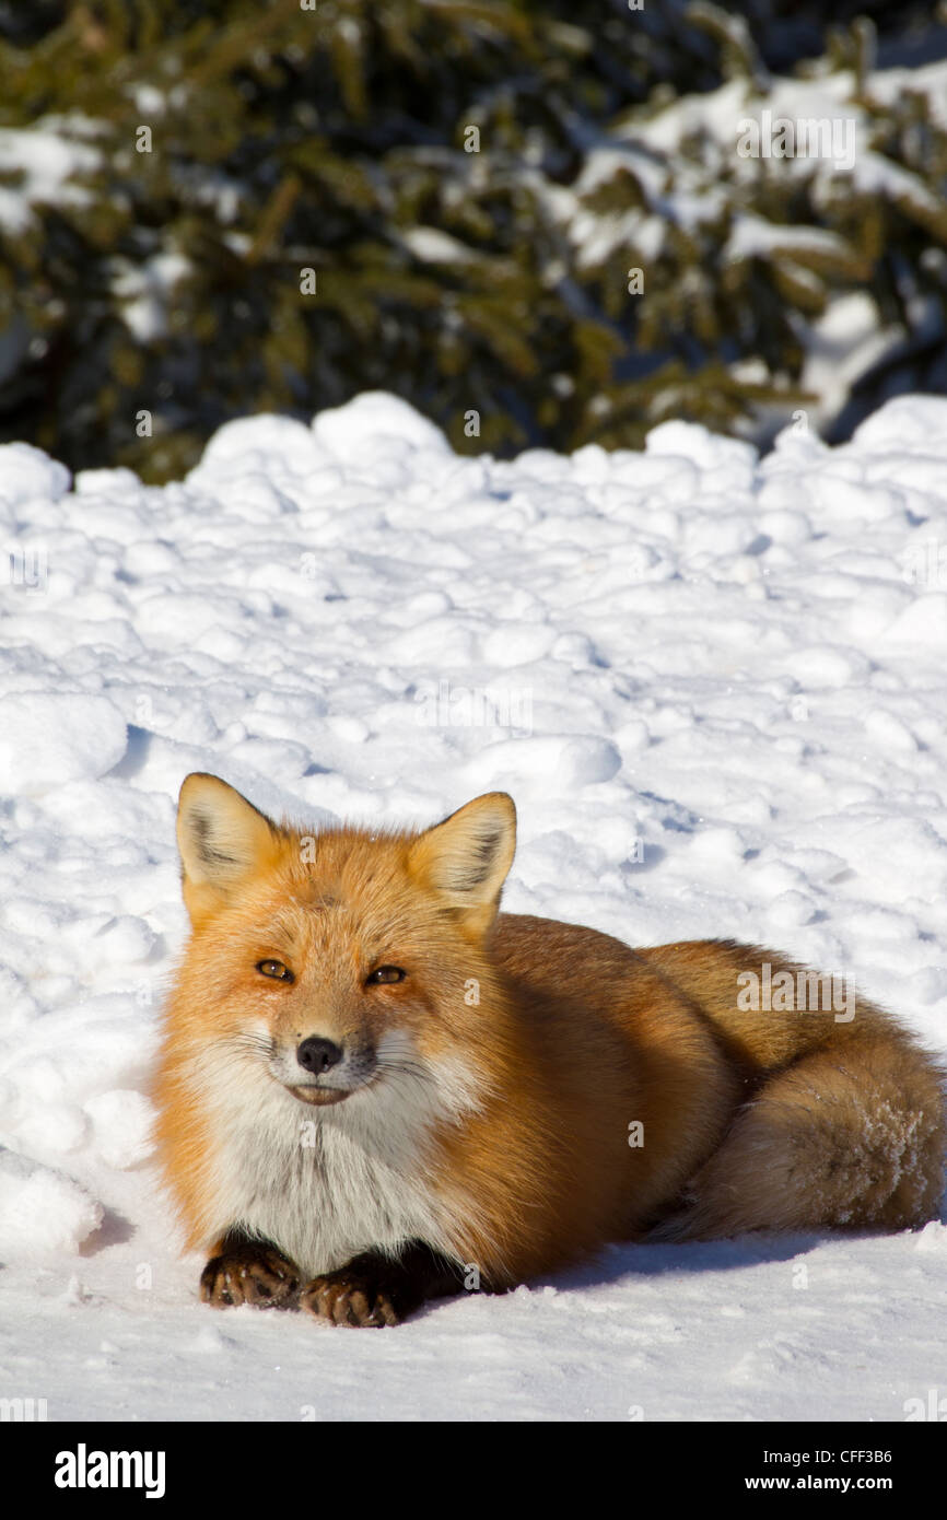
M278 830L252 803L216 775L195 771L178 801L184 903L192 924L220 907L254 871L269 865Z

